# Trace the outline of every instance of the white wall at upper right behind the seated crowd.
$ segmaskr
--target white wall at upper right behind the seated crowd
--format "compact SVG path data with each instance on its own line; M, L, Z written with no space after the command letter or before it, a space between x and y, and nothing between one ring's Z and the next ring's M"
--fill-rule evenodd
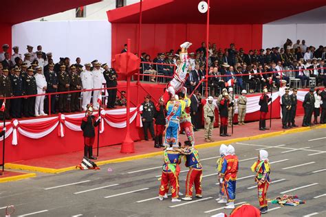
M287 38L294 43L297 39L305 39L306 45L318 48L326 45L326 23L322 24L287 24L263 25L263 48L283 47Z

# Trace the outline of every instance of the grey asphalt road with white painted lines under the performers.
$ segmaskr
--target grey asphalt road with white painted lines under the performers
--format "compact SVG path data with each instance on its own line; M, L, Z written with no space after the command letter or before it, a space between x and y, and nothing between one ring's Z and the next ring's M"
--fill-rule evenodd
M259 148L268 150L272 172L268 198L296 194L305 205L269 204L265 216L326 216L326 130L270 137L233 144L239 157L235 203L259 206L250 166ZM203 198L191 203L158 201L162 157L105 165L98 171L75 170L38 174L36 178L0 185L0 216L14 205L12 216L212 216L230 214L215 201L218 185L215 164L219 146L199 149L204 167ZM111 168L111 172L108 171ZM184 171L184 172L183 172ZM185 191L187 169L182 163L180 191Z

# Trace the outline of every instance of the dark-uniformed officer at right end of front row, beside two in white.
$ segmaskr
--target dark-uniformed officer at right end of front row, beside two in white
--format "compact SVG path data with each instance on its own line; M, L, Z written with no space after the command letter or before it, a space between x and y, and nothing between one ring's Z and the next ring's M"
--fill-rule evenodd
M106 63L102 65L102 68L105 69L103 76L107 81L107 87L117 87L118 75L116 70L109 68ZM116 104L117 89L107 89L107 94L109 95L107 98L107 108L114 109L114 104Z

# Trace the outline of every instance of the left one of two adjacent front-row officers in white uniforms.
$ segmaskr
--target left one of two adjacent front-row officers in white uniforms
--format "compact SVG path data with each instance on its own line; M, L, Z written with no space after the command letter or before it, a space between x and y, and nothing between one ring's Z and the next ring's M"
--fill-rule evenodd
M85 70L80 73L80 77L83 84L83 90L93 89L93 73L91 72L91 64L85 64ZM83 94L83 111L87 110L87 104L91 102L91 91L82 92Z

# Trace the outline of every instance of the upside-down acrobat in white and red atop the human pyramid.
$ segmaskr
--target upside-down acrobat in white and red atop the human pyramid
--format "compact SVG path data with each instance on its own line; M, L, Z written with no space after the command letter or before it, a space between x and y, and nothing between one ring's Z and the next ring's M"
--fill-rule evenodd
M173 78L171 82L166 87L166 91L163 95L164 102L168 102L170 96L174 97L175 94L184 92L186 93L186 90L184 88L184 83L186 82L186 79L188 78L189 75L189 57L188 57L188 52L187 49L192 45L192 43L186 41L181 47L181 52L180 52L180 60L181 63L180 65L177 65L177 70L175 71Z

